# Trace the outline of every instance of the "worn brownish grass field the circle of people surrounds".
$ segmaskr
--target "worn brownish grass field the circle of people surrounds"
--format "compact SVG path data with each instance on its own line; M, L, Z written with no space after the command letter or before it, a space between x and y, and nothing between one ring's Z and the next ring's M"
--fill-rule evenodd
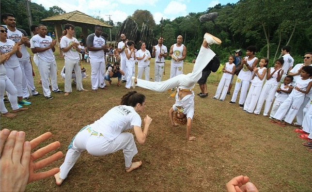
M58 69L64 64L56 53ZM151 61L151 77L154 79L154 60ZM91 74L90 64L84 64ZM191 72L193 64L184 64L184 74ZM34 65L38 84L40 75ZM169 79L170 61L166 61ZM221 78L221 75L219 79ZM58 76L58 84L64 90L64 80ZM108 84L108 83L107 83ZM263 192L311 192L311 158L302 142L296 137L294 127L269 123L262 115L245 113L236 104L228 104L231 96L219 102L210 99L217 88L217 75L208 78L209 96L195 96L195 114L191 135L195 141L185 139L186 126L172 127L168 111L174 104L169 93L155 93L137 87L146 96L146 107L140 113L153 118L145 144L137 143L139 153L134 161L142 160L142 166L125 172L122 151L95 157L83 152L61 186L54 177L28 185L27 191L225 191L225 184L234 176L249 176ZM1 117L1 129L23 130L27 140L50 131L52 141L60 141L65 156L67 146L79 129L99 119L113 106L120 104L128 91L125 83L117 87L113 79L109 90L91 92L90 76L83 79L88 92L78 92L73 86L69 96L52 94L54 99L31 96L32 105L25 112L18 112L13 119ZM234 89L234 87L233 87ZM195 86L195 94L200 92ZM9 104L6 104L10 111ZM130 130L133 133L133 130ZM64 158L47 167L61 166ZM310 179L309 179L310 178Z

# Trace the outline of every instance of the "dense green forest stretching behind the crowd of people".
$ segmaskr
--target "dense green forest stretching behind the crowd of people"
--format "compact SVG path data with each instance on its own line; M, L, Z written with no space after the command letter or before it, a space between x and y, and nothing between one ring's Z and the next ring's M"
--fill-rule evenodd
M53 6L46 10L42 5L29 1L33 24L45 24L50 32L54 27L52 23L42 22L41 19L65 13L61 7ZM201 5L199 5L201 6ZM1 13L12 13L16 17L17 27L30 34L25 0L2 0ZM214 21L200 22L199 17L217 12ZM132 16L138 26L148 24L154 35L160 36L161 24L156 24L153 15L147 10L136 10ZM280 57L281 47L292 47L291 55L295 63L302 63L302 55L312 51L312 1L311 0L240 0L235 4L218 4L208 7L202 13L189 13L187 16L177 17L174 20L164 19L162 22L164 44L170 48L176 42L176 37L182 35L187 46L187 60L195 58L200 48L203 34L209 32L222 40L220 46L214 46L214 51L222 62L226 62L229 54L234 50L243 52L250 45L258 48L256 56L268 57L270 65ZM96 19L105 21L103 18ZM105 21L113 25L112 36L118 33L121 22ZM158 23L158 22L157 22ZM4 24L1 21L1 24ZM94 29L89 29L92 33ZM109 32L109 29L104 29ZM81 29L76 29L79 36ZM156 40L155 40L156 42ZM243 54L244 55L244 54Z

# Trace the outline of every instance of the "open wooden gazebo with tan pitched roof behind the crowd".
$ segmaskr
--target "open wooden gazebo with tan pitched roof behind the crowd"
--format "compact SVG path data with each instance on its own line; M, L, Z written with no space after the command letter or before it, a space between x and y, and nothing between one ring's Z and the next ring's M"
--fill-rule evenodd
M111 40L112 26L110 26L109 24L105 22L102 22L100 20L93 18L92 16L88 16L87 14L84 14L80 11L73 11L73 12L62 14L62 15L50 16L45 19L42 19L42 21L49 21L49 22L54 23L54 31L55 31L55 36L57 40L62 36L62 24L66 24L66 23L70 23L75 26L81 27L81 32L85 40L87 39L87 36L89 35L88 28L94 27L95 25L108 27L110 40Z

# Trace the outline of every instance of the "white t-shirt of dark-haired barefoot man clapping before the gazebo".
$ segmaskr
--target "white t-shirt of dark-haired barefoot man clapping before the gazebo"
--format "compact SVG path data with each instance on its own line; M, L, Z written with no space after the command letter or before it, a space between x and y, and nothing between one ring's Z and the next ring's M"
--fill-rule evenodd
M61 48L66 48L68 47L69 45L73 44L73 41L75 43L78 43L78 40L73 37L73 38L68 38L66 36L63 36L62 39L61 39L61 42L60 42L60 46ZM79 45L78 48L81 48L81 46ZM80 60L80 57L79 57L79 53L77 51L76 48L70 48L68 51L64 52L64 59L66 61L79 61Z

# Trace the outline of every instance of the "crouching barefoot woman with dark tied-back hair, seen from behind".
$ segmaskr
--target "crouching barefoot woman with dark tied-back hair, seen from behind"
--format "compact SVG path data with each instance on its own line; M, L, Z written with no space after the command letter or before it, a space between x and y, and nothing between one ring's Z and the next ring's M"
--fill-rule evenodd
M142 130L138 112L142 112L144 107L144 95L136 91L128 92L121 99L121 105L113 107L93 124L82 128L68 147L64 163L60 167L60 173L54 176L56 184L62 184L84 150L91 155L103 156L123 149L125 171L130 172L139 168L142 161L132 163L132 158L138 153L133 135L123 131L133 128L138 142L144 144L149 125L152 122L152 119L146 115Z

